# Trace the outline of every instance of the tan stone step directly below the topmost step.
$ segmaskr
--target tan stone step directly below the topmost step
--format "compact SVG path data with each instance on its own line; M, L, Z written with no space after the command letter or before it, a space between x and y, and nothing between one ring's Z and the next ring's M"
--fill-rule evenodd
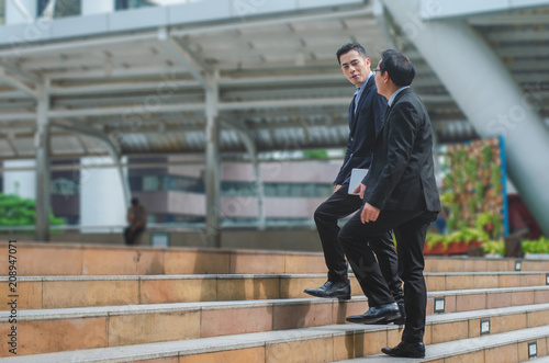
M362 291L351 275L354 295ZM426 273L428 291L541 286L547 273L447 272ZM166 304L212 300L248 300L309 297L304 288L324 284L326 275L316 274L206 274L206 275L125 275L125 276L20 276L20 309L61 307ZM8 277L0 277L0 290L8 291ZM8 309L0 305L0 310Z

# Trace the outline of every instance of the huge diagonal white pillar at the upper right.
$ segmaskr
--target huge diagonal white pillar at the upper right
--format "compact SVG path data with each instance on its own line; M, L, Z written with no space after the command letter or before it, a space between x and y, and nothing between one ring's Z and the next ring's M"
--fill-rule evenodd
M536 112L540 100L523 93L493 49L463 21L423 22L419 0L383 2L478 134L504 136L508 175L549 235L549 132Z

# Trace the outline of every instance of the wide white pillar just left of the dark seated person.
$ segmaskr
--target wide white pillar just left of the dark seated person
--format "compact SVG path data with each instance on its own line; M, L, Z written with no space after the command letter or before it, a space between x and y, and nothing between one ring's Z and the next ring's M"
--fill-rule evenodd
M120 231L126 224L124 186L116 167L98 168L115 162L111 157L80 159L80 225L82 232ZM104 226L104 228L86 228Z

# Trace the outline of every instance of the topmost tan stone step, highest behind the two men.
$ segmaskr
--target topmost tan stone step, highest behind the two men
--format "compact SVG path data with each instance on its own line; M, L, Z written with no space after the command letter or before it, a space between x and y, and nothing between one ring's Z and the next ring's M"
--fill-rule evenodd
M26 276L326 272L321 252L16 243L18 273ZM0 242L0 260L8 260L5 241ZM464 257L427 257L425 271L515 271L517 261L522 271L549 271L549 260Z

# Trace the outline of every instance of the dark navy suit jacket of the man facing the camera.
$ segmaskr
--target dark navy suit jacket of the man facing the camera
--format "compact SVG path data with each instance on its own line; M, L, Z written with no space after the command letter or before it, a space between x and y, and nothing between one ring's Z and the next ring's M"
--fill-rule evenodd
M347 151L334 184L349 182L352 168L368 169L372 160L373 143L383 125L386 99L378 93L374 77L370 77L352 116L349 105L349 138Z

